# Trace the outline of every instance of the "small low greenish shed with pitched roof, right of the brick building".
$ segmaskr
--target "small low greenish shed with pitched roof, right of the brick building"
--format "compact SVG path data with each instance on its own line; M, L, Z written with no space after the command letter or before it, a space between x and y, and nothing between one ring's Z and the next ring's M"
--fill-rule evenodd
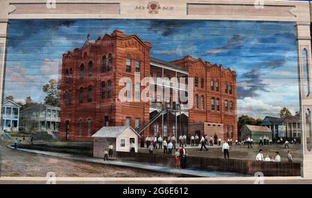
M259 140L260 136L262 136L262 138L264 136L271 138L270 137L271 134L272 134L271 129L264 126L244 125L243 127L241 127L241 137L245 139L248 138L249 136L254 140L254 143L260 142Z

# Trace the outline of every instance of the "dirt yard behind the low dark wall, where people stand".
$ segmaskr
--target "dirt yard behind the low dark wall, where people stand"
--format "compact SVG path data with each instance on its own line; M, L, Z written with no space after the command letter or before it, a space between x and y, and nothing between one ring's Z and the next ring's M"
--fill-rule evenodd
M206 151L205 148L200 151L200 147L191 147L187 145L187 153L188 156L202 156L202 157L209 157L209 158L223 158L223 152L220 146L208 147L209 150ZM295 162L302 161L302 145L289 145L288 148L284 148L284 145L253 145L252 148L248 149L247 145L232 145L229 147L229 158L230 159L245 159L245 160L256 160L256 155L258 154L259 150L263 150L263 157L266 157L266 154L269 154L270 157L275 155L275 152L279 152L281 156L281 161L287 161L287 151L291 151L291 155ZM139 148L139 152L148 153L148 150L145 148ZM163 154L163 150L156 149L154 153L156 154ZM175 152L173 152L174 154Z

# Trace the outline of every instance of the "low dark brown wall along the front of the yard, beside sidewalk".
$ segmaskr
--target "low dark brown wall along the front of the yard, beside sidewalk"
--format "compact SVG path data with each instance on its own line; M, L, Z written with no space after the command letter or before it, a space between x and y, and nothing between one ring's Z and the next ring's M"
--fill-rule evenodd
M175 157L163 154L125 153L116 152L118 158L128 161L151 163L154 165L175 165ZM196 156L187 157L188 168L200 170L239 172L254 175L256 172L263 172L266 177L278 176L301 176L301 163L288 162L261 162L240 159L213 159Z

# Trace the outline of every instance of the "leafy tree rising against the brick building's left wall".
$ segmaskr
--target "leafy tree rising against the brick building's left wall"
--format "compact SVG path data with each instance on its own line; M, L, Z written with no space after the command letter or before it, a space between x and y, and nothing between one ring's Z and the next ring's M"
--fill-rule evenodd
M60 82L54 79L49 80L49 84L42 87L42 91L46 93L44 104L60 107Z

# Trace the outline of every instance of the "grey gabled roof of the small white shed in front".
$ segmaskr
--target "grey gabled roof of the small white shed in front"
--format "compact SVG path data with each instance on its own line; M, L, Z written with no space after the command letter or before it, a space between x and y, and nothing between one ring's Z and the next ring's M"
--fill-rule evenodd
M131 129L137 136L141 137L132 127L121 126L121 127L102 127L95 134L93 134L92 138L117 138L127 129Z

